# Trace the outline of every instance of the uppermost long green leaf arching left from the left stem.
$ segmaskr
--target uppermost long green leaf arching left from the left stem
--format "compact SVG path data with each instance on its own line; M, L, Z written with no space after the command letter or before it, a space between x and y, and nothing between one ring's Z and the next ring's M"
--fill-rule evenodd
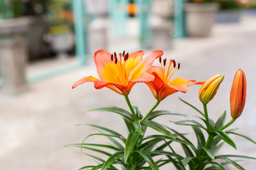
M117 113L118 115L121 115L122 117L125 117L130 121L133 120L132 114L129 111L124 110L122 108L118 108L116 106L96 108L96 109L88 110L88 111L109 111L109 112Z

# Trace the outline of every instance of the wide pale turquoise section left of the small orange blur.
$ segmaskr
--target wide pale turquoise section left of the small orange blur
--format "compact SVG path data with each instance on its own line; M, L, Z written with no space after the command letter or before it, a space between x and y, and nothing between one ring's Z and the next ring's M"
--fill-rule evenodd
M111 18L111 34L123 36L126 33L126 21L128 16L127 6L128 0L110 0L109 1L109 17Z

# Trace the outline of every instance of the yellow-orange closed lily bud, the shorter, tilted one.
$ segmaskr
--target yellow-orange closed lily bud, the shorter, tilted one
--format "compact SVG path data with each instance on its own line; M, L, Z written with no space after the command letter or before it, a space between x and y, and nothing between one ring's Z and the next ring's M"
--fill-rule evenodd
M223 75L216 75L205 81L204 85L199 90L199 99L202 103L207 104L215 96L220 83L223 80Z

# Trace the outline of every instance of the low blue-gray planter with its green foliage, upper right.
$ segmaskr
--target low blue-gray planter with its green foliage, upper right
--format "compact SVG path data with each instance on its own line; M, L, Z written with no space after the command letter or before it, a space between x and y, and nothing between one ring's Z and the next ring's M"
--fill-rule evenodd
M216 15L218 23L239 22L243 5L240 0L219 1L220 11Z

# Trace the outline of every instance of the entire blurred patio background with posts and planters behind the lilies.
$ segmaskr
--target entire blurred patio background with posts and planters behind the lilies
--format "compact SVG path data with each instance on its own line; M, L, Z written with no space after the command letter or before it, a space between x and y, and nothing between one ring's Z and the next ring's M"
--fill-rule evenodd
M97 77L93 53L101 48L111 53L145 50L145 55L164 50L164 57L181 63L174 76L205 81L225 74L209 104L214 120L223 110L229 113L232 79L236 69L243 69L248 81L246 105L232 127L255 140L255 46L253 0L1 0L0 169L69 170L94 164L79 148L63 148L81 143L95 131L76 126L79 123L126 134L122 118L112 113L83 114L108 105L127 108L124 97L108 89L95 90L92 83L71 89L83 76ZM202 109L199 88L173 94L159 108L196 115L178 97ZM134 86L130 98L144 114L155 103L143 84ZM189 127L168 121L181 119L166 116L157 122L191 132L189 136L196 141ZM255 145L230 137L237 150L227 146L220 154L256 156ZM108 142L96 137L88 141ZM182 152L178 145L177 150ZM255 169L256 162L244 160L241 165Z

